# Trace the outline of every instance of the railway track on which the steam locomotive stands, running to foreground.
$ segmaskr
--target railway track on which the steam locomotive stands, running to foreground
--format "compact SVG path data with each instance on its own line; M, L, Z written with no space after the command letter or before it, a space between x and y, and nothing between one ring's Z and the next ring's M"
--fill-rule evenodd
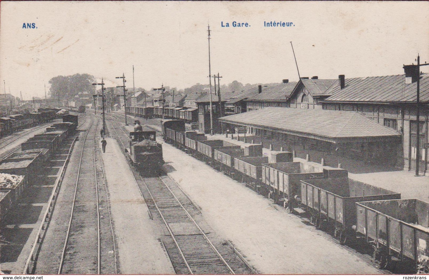
M127 132L115 119L108 119L108 121L122 147L127 148L121 139L127 140ZM118 133L114 122L122 130L124 137L119 135L121 133ZM138 171L133 168L131 170L142 194L146 193L150 196L153 208L156 209L172 239L171 244L166 244L166 250L177 274L236 274L235 271L239 271L240 274L250 274L252 272L241 259L231 258L231 255L222 248L224 255L229 257L229 261L226 261L223 254L216 248L215 242L209 238L210 234L204 232L172 191L172 182L168 176L164 174L143 178ZM243 266L246 267L243 268Z

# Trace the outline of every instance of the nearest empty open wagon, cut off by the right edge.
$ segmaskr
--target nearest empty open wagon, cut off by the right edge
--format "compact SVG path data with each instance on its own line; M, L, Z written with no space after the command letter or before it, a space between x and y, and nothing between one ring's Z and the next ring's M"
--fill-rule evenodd
M393 259L413 262L429 273L429 203L421 200L379 200L356 203L356 235L374 246L381 268Z

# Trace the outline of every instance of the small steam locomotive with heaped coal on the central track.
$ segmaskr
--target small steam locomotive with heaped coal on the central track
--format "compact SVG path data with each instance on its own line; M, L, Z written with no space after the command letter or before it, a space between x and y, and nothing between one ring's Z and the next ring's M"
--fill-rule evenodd
M143 128L139 120L134 126L125 126L130 135L130 149L126 149L127 158L131 164L144 174L156 173L164 164L162 144L157 143L156 131Z

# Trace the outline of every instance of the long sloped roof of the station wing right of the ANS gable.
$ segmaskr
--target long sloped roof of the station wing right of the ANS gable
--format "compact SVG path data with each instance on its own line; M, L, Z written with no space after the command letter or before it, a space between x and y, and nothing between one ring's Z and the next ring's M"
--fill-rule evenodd
M340 89L334 83L328 90L326 101L353 102L416 102L417 82L406 84L405 74L345 79ZM420 74L420 101L429 102L429 74Z

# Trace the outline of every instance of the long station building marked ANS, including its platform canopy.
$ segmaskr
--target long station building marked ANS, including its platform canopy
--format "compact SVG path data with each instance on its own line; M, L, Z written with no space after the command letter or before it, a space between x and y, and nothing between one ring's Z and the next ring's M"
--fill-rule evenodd
M353 166L352 169L355 169L356 172L360 170L357 167L363 162L366 165L378 165L373 170L387 171L399 167L415 170L418 139L420 141L421 159L419 169L420 172L425 173L429 167L426 152L429 146L429 75L426 73L416 75L416 73L413 74L408 71L406 67L404 69L405 74L381 77L346 79L344 75L339 75L338 79L329 80L318 79L317 76L311 79L301 78L299 82L291 83L284 80L284 83L279 86L266 88L257 95L249 94L236 102L236 104L245 102L245 107L242 105L236 107L241 106L249 113L252 110L267 107L288 107L302 110L304 115L299 114L301 123L295 127L296 131L279 129L276 126L282 122L286 125L288 122L294 121L295 113L285 113L288 112L287 110L278 112L263 110L251 115L251 118L247 114L238 114L224 117L221 122L244 126L247 128L247 133L253 134L253 137L256 138L260 137L259 140L262 140L264 145L271 143L276 149L279 149L279 146L284 146L285 149L289 150L294 149L297 153L304 154L299 155L300 157L305 157L305 151L310 152L310 148L314 147L313 155L318 159L324 156L325 162L332 166L335 166L334 162L329 162L332 161L332 154L334 154L332 150L335 150L340 163L341 160L344 163L345 158L352 159L354 157L353 164L348 159L346 161L349 162L348 168ZM417 79L420 79L419 137L417 137L416 117ZM285 83L285 81L287 82ZM319 115L319 111L331 110L354 113L356 116L353 117L351 124L359 127L363 132L367 132L368 135L358 137L350 134L350 137L347 137L349 140L346 142L344 140L327 140L327 138L317 139L317 141L322 142L314 142L315 136L308 137L305 134L307 126L319 125L322 131L329 131L332 127L326 126L326 123L321 120L329 119L329 116L334 115L326 115L326 113ZM273 121L276 119L277 113L280 113L283 119ZM312 120L302 119L305 115L310 116ZM344 113L336 116L338 124L347 119L346 116L349 115ZM265 124L255 124L250 119L260 119ZM367 123L367 119L372 122ZM366 125L370 125L371 129ZM387 131L393 133L387 137L389 138L388 141L386 141L386 137L377 135L378 132L384 135ZM388 136L387 134L384 136ZM363 139L366 140L363 141ZM301 148L299 148L300 146ZM324 155L323 153L320 154L321 150L324 151ZM394 155L394 158L387 156L387 153ZM316 159L313 158L312 160ZM390 165L390 168L384 168L387 165ZM343 167L347 168L347 166Z

